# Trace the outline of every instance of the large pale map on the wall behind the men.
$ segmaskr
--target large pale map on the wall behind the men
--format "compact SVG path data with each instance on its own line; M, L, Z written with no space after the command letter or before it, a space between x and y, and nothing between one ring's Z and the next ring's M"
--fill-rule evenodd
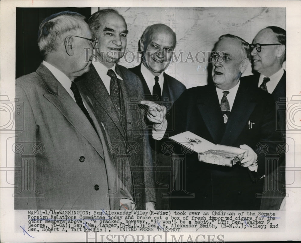
M101 8L100 8L101 9ZM138 41L144 29L155 23L168 25L177 36L174 57L166 73L191 88L206 85L208 52L219 36L237 35L251 43L267 26L286 29L286 8L273 7L117 7L124 16L129 34L125 57L120 64L139 64ZM92 8L92 13L98 8ZM126 58L126 59L125 59ZM243 76L250 75L251 66Z

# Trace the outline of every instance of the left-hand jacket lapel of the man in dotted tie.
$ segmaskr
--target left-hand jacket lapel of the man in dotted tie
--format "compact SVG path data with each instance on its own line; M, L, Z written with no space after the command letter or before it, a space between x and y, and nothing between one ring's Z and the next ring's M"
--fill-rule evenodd
M93 65L90 65L90 71L86 75L87 76L84 85L94 96L96 102L103 108L112 122L116 125L121 135L125 138L125 132L119 113L117 112L113 101L107 92L106 87L104 86L104 83L102 82Z

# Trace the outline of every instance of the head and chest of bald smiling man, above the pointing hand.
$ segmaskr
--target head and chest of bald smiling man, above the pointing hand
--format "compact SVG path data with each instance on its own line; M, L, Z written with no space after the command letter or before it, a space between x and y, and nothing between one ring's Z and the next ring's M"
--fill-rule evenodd
M169 66L176 44L176 35L167 25L148 26L139 40L141 63L129 68L142 81L144 94L154 101L175 102L186 89L177 79L164 72Z

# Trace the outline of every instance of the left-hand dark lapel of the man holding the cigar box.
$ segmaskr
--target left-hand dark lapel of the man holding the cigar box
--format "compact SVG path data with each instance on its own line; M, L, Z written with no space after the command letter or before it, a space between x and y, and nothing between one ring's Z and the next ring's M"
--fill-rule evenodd
M203 93L199 94L197 99L197 107L213 141L219 143L224 122L216 88L213 85L206 85L202 91Z

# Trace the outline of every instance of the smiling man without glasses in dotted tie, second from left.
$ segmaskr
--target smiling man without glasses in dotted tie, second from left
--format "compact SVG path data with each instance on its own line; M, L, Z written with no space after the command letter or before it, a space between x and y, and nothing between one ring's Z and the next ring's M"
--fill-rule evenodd
M77 84L107 129L118 176L132 193L136 209L154 209L151 149L137 108L143 87L138 76L117 64L126 49L126 22L116 10L103 9L88 24L98 39L96 58Z

